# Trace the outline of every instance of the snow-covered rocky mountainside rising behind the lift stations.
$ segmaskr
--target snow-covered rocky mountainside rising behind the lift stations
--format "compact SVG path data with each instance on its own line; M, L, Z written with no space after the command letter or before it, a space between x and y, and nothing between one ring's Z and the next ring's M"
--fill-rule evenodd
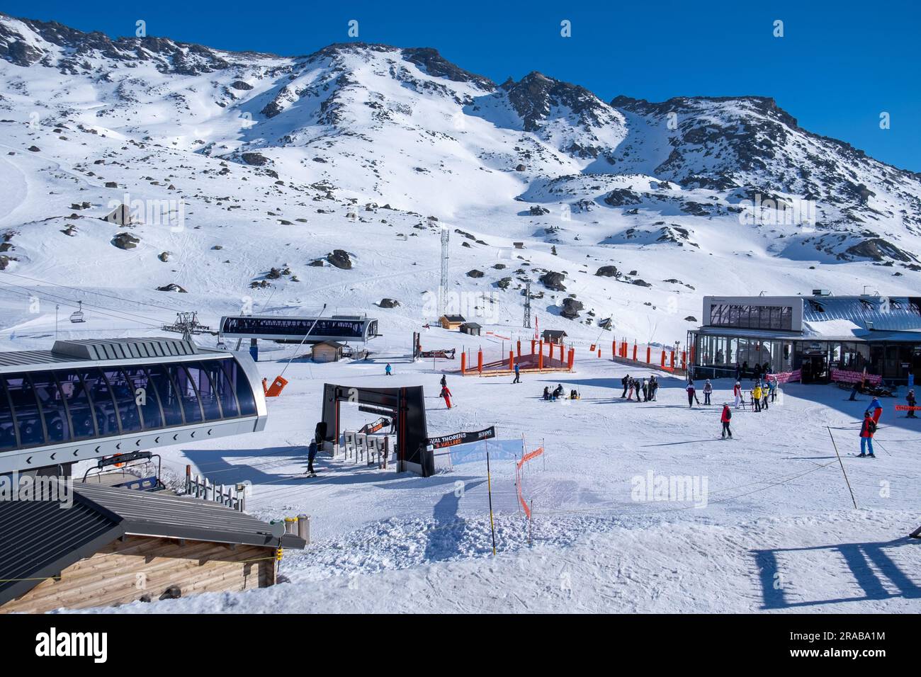
M444 223L458 290L493 295L498 325L520 323L528 278L554 280L539 311L575 296L577 323L673 340L704 293L901 294L921 272L919 176L773 99L605 102L428 48L288 58L0 15L0 145L0 269L145 302L178 286L213 313L328 289L366 310L397 298L408 328ZM99 221L119 202L146 215Z

